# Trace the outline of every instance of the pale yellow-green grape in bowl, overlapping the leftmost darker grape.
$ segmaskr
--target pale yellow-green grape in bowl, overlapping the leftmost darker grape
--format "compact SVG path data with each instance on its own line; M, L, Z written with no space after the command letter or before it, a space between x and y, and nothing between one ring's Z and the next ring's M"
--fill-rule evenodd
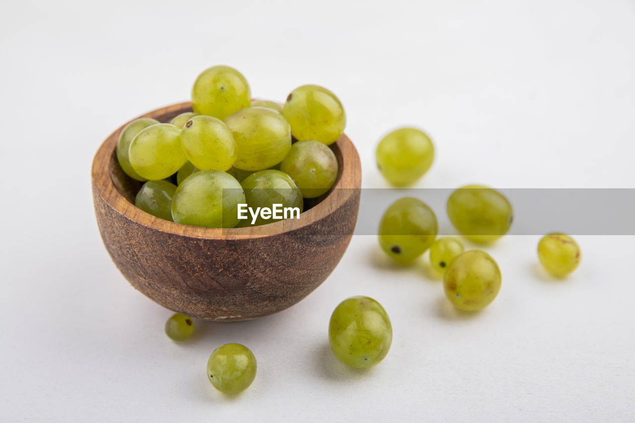
M133 169L144 178L171 177L187 161L181 147L181 130L170 123L148 126L133 138L128 157Z

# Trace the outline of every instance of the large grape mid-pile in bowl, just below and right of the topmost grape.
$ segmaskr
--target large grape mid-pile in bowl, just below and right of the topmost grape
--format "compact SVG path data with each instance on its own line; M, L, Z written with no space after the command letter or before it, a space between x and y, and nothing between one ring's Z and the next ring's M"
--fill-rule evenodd
M228 116L225 123L234 133L241 170L264 170L280 163L291 148L291 129L278 112L249 107Z

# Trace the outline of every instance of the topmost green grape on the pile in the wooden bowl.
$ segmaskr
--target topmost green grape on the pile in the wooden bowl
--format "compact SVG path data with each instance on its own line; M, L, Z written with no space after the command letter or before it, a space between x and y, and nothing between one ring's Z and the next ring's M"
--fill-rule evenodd
M249 107L251 91L243 74L229 66L204 70L192 88L192 109L220 120Z

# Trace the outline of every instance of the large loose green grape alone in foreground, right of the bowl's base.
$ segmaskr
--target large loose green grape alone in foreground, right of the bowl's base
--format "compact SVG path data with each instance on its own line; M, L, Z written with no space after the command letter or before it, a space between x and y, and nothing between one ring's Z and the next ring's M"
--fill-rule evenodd
M351 297L335 307L328 324L331 351L347 366L368 368L382 361L392 343L391 319L369 297Z

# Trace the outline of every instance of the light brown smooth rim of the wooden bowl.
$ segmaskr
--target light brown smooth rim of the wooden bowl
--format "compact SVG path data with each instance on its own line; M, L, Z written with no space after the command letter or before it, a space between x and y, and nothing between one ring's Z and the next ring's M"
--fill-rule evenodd
M361 188L361 162L359 160L358 151L349 137L342 134L335 142L340 151L339 156L341 156L342 163L335 185L333 185L326 198L309 210L300 213L300 218L298 219L280 220L279 222L255 227L208 228L177 224L150 215L137 208L133 203L130 203L130 201L119 192L110 177L110 164L113 163L112 157L115 154L119 133L121 133L121 130L123 130L128 123L140 119L141 117L157 119L157 117L162 117L167 114L175 114L176 116L177 114L191 110L192 105L190 102L181 102L160 107L159 109L154 109L141 116L135 117L135 119L131 119L113 131L104 142L102 142L93 158L91 179L95 195L102 198L104 203L114 211L133 222L166 234L198 239L253 239L276 236L285 232L302 229L314 222L318 222L318 220L330 215L330 213L333 213L333 211L344 205L349 198L354 196L354 191Z

